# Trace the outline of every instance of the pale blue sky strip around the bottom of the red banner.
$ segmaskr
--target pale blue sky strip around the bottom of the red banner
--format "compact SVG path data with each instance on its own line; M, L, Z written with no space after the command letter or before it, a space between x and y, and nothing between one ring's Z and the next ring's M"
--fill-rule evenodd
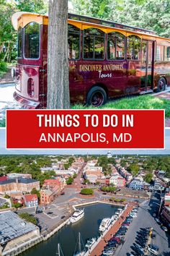
M155 138L156 140L156 138ZM165 132L165 150L110 150L113 155L119 154L139 154L139 155L170 155L170 129L166 129ZM0 129L0 155L86 155L86 154L99 154L99 155L106 155L108 150L87 150L87 149L69 149L69 150L6 150L6 143L5 143L5 129Z

